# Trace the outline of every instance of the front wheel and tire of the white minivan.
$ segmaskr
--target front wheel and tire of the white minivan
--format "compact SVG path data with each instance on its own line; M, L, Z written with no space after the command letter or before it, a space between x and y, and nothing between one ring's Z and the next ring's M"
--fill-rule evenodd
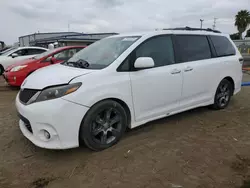
M125 109L116 101L105 100L95 104L84 117L79 141L94 151L115 145L128 125Z

